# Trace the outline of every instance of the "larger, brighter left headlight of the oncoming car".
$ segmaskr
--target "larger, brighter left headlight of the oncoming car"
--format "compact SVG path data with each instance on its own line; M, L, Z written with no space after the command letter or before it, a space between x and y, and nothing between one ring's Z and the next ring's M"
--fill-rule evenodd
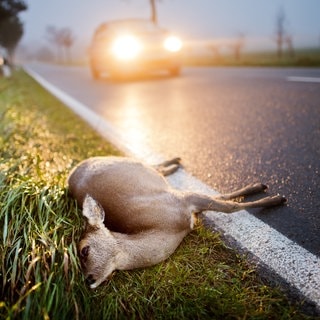
M131 35L117 38L111 48L113 55L119 60L132 60L142 49L140 41Z

